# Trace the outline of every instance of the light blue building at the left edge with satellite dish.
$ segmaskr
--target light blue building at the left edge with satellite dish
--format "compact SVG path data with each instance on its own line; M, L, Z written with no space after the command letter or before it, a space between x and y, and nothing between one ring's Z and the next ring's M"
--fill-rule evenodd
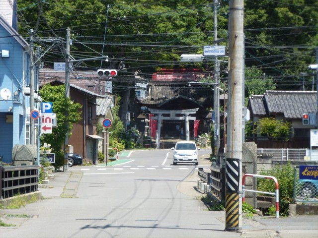
M30 100L23 93L30 82L30 55L14 13L9 22L0 13L0 159L11 164L13 146L30 143Z

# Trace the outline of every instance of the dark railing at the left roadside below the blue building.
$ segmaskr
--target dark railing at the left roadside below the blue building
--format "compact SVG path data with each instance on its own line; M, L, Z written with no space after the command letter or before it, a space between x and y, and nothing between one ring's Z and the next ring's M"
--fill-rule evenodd
M38 190L39 166L0 167L0 199Z

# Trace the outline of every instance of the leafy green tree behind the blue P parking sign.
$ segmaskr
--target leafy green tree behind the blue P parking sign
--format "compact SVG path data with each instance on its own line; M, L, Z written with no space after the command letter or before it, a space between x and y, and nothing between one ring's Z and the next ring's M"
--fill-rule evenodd
M55 158L55 168L59 168L64 164L63 155L63 143L65 135L67 133L66 124L67 121L71 131L73 123L78 122L81 119L79 109L81 105L79 103L74 103L70 98L65 98L65 86L51 86L50 84L45 84L40 89L40 94L43 102L52 102L53 113L56 114L57 127L53 127L52 134L42 134L40 137L41 144L47 143L51 145L54 153L56 153ZM68 116L65 116L68 115ZM71 136L72 133L69 134Z

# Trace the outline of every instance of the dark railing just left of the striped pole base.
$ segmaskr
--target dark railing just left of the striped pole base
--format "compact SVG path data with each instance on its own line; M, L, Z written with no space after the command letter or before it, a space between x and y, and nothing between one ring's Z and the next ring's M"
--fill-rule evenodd
M211 167L211 193L219 200L225 200L225 168Z

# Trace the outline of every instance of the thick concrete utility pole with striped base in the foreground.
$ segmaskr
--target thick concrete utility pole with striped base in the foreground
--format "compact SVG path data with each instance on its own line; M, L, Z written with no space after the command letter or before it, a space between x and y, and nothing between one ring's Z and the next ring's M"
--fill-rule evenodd
M242 229L241 161L242 161L242 65L244 1L230 0L229 4L229 85L228 129L226 160L226 231Z

